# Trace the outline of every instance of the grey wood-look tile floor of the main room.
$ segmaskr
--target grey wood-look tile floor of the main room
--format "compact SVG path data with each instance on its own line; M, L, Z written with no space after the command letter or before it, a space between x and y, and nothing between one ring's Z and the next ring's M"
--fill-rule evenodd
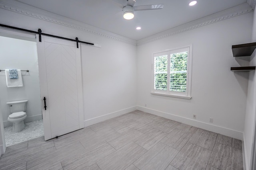
M7 147L0 170L242 170L242 141L133 111Z

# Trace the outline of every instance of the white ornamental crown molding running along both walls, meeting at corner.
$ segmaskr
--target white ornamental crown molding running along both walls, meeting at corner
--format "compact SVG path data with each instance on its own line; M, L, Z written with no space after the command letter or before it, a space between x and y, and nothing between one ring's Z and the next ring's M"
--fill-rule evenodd
M28 11L28 10L24 10L24 9L12 6L10 4L5 4L3 2L0 2L0 8L5 9L5 10L9 10L9 11L12 11L12 12L16 12L16 13L19 13L19 14L23 14L23 15L26 15L26 16L33 17L33 18L37 18L37 19L40 19L40 20L56 23L56 24L63 25L63 26L66 26L66 27L71 27L71 28L74 28L74 29L78 29L80 31L85 31L85 32L88 32L88 33L92 33L94 35L99 35L99 36L102 36L102 37L105 37L105 38L108 38L108 39L112 39L112 40L119 41L119 42L122 42L122 43L127 43L127 44L130 44L130 45L143 45L143 44L146 44L146 43L150 43L152 41L157 41L159 39L163 39L163 38L166 38L166 37L170 37L172 35L176 35L178 33L183 33L185 31L189 31L191 29L195 29L195 28L198 28L198 27L209 25L211 23L226 20L228 18L233 18L235 16L240 16L242 14L247 14L248 12L254 11L254 8L255 8L255 5L256 5L256 0L252 0L252 3L250 5L251 6L247 9L243 9L243 10L240 10L240 11L237 11L237 12L232 12L230 14L222 15L222 16L219 16L217 18L210 19L210 20L207 20L207 21L204 21L204 22L201 22L201 23L196 23L196 21L192 21L190 23L190 26L188 26L188 23L185 23L185 24L180 25L176 28L171 28L171 29L168 29L168 30L163 31L161 33L157 33L156 35L151 35L149 37L146 37L144 39L140 39L140 40L136 41L136 40L129 39L129 38L126 38L126 37L122 37L121 35L116 35L114 33L110 33L110 32L105 31L105 30L98 31L96 29L99 29L99 28L96 28L96 27L93 28L93 26L90 26L90 25L80 26L80 25L77 25L77 24L73 24L73 23L70 23L70 22L67 22L67 21L62 21L62 20L55 19L55 18L52 18L52 17L44 16L42 14L38 14L38 13L35 13L35 12L31 12L31 11ZM92 28L89 28L89 27L92 27ZM177 28L178 28L178 30L177 30ZM176 29L176 30L174 30L174 29Z

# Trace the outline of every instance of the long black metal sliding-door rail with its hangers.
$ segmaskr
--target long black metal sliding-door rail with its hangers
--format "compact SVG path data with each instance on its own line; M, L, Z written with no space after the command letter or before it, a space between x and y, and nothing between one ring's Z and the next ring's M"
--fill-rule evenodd
M51 34L42 33L42 30L41 30L41 29L38 29L38 31L36 32L36 31L31 31L31 30L28 30L28 29L23 29L23 28L18 28L18 27L12 27L12 26L9 26L9 25L4 25L4 24L0 24L0 26L1 26L1 27L11 28L11 29L18 29L18 30L20 30L20 31L26 31L26 32L30 32L30 33L39 34L39 42L42 41L41 35L46 35L46 36L48 36L48 37L66 39L66 40L69 40L69 41L76 41L76 47L77 47L77 48L78 48L78 43L85 43L85 44L88 44L88 45L94 45L94 43L87 43L87 42L84 42L84 41L79 41L78 38L77 38L77 39L70 39L70 38L59 37L59 36L56 36L56 35L51 35Z

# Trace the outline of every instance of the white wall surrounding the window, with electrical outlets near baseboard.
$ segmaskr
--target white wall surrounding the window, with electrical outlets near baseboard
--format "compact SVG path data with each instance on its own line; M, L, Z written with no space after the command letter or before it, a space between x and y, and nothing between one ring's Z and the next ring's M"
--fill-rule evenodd
M248 72L231 66L248 61L232 56L232 45L251 40L252 12L172 35L137 49L138 106L150 113L242 139ZM151 95L152 53L193 45L191 100ZM145 107L147 104L147 107ZM192 115L196 114L196 120ZM213 123L209 123L209 117Z

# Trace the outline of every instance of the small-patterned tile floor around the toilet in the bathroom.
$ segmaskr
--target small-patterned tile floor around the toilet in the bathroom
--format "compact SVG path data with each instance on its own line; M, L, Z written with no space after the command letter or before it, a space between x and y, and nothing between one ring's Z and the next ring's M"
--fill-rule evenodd
M43 120L25 123L25 129L13 133L12 126L4 128L6 146L44 135Z

